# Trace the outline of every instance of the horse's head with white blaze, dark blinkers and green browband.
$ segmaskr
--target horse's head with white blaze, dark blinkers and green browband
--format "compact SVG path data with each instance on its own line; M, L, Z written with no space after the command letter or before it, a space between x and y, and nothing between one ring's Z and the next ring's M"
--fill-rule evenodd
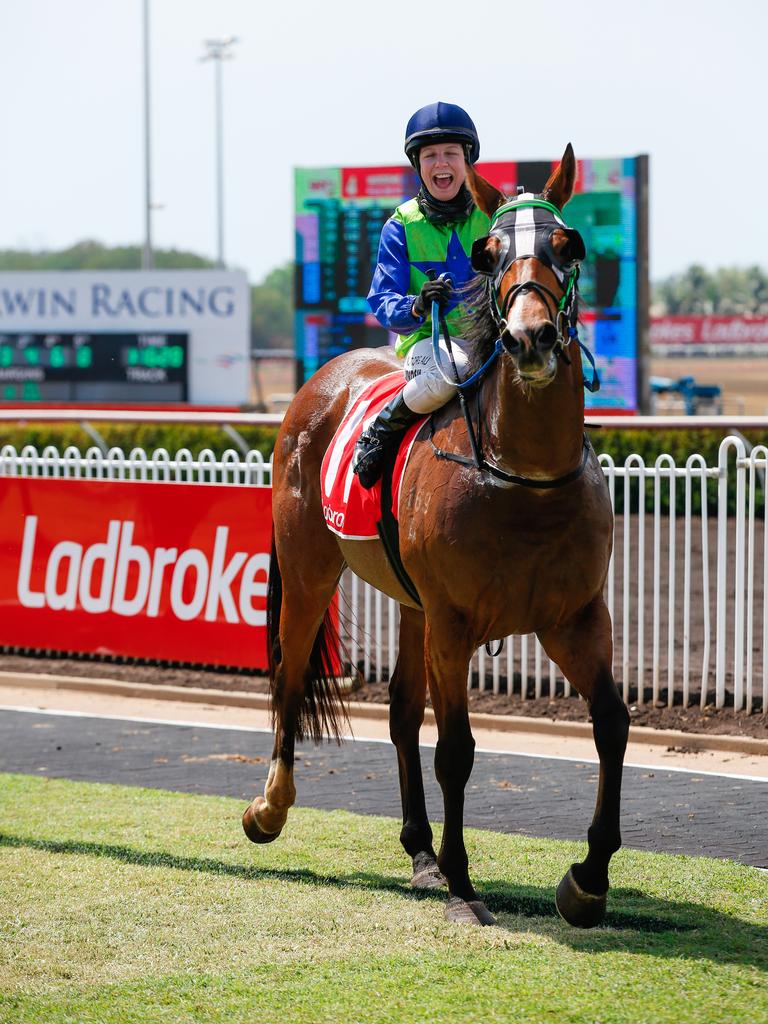
M472 247L472 266L486 276L502 344L520 379L534 387L554 379L557 353L575 327L575 282L585 248L560 212L574 181L570 143L541 195L508 199L472 168L467 175L475 203L490 217L489 234Z

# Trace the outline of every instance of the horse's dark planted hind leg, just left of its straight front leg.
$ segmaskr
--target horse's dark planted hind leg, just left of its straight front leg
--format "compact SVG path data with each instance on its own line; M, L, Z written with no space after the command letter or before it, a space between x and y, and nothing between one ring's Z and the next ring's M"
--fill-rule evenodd
M424 722L426 693L424 614L401 607L399 650L389 682L389 735L397 750L400 777L400 843L413 860L411 885L415 889L436 889L445 885L432 846L419 754L419 730Z

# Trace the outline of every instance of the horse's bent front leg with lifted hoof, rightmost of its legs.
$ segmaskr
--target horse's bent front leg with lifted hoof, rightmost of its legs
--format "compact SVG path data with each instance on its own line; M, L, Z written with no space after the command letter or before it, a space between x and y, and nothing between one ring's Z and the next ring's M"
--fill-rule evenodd
M587 834L589 852L581 864L571 865L556 896L557 909L568 924L592 928L605 915L608 863L622 845L622 769L630 727L627 706L613 681L610 617L602 597L570 622L541 633L539 639L589 702L600 759L597 803Z

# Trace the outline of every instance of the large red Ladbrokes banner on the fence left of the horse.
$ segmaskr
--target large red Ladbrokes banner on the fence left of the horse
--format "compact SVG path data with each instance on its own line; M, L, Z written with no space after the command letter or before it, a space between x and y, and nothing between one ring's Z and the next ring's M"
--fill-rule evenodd
M271 488L0 479L0 644L266 668Z

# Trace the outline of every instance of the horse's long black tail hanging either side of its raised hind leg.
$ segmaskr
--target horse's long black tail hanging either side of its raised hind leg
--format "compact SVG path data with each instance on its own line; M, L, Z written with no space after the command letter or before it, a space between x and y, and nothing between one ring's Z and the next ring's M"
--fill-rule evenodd
M271 693L272 727L282 716L283 680L279 667L283 660L280 642L280 618L283 607L283 574L280 570L272 527L269 578L266 587L266 646L269 659L269 690ZM341 671L339 633L329 608L323 616L309 654L304 677L304 694L298 710L296 738L319 742L325 736L341 742L342 727L348 722L346 708L339 688Z

